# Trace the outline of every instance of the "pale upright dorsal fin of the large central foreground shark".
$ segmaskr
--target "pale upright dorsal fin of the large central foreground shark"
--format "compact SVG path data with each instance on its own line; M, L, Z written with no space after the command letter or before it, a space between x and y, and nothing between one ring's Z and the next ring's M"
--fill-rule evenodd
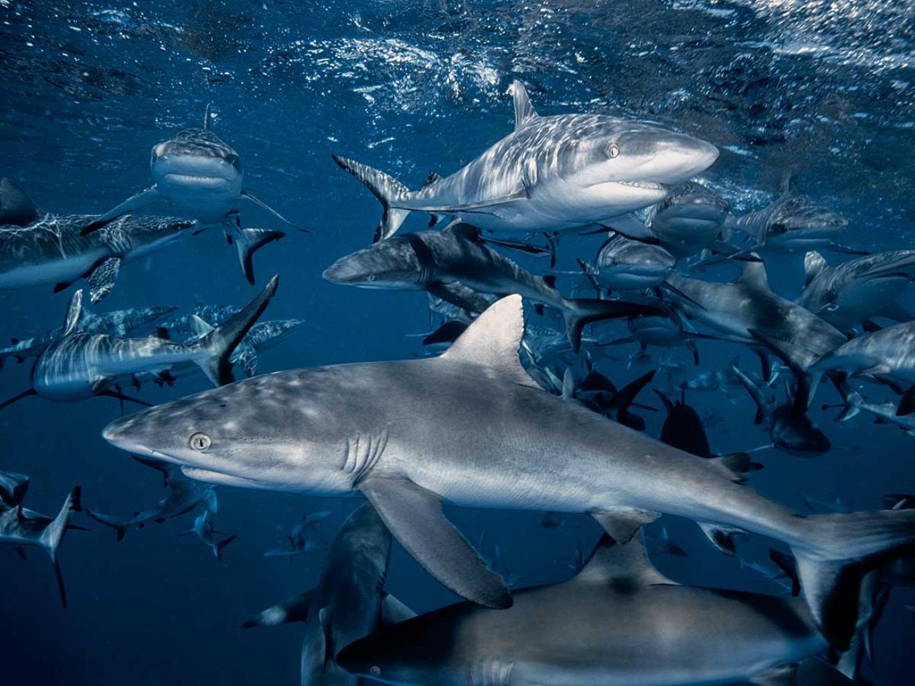
M524 335L521 295L507 295L486 308L439 359L470 362L510 375L517 383L540 388L518 358Z

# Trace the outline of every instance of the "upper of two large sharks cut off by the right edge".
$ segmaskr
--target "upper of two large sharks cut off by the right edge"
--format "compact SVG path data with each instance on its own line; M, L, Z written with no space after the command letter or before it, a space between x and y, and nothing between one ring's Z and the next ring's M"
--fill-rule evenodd
M896 301L915 279L915 250L879 252L829 266L819 252L804 255L806 284L794 301L840 331L871 316L908 321Z

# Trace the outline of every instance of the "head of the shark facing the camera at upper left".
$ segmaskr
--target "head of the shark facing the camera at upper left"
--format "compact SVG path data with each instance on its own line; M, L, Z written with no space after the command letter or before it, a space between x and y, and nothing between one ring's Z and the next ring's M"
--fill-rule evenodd
M156 187L166 195L177 188L236 194L242 190L242 158L211 131L186 129L156 144L150 165Z

